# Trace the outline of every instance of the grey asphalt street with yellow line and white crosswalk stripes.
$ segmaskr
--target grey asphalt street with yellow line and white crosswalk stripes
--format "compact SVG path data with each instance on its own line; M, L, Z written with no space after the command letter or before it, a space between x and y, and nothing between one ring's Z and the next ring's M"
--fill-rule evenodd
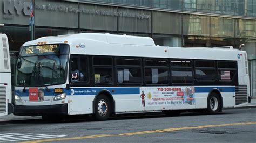
M181 113L0 121L0 142L255 142L256 108L224 109L217 115Z

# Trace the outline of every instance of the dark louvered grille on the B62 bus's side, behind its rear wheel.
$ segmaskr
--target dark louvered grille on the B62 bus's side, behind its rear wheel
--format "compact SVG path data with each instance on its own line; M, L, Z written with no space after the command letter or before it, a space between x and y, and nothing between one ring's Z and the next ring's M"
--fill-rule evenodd
M247 85L235 87L235 105L246 103L247 101Z

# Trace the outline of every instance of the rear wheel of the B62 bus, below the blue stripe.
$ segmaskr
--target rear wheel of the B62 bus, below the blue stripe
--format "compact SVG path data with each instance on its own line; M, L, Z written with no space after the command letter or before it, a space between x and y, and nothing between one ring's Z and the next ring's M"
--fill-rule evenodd
M216 93L211 93L207 98L207 113L217 114L221 111L220 98Z

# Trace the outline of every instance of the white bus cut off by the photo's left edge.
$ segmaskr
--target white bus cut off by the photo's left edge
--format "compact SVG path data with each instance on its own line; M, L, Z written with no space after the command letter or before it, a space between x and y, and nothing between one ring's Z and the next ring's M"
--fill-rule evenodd
M0 116L12 113L11 66L6 34L0 33Z

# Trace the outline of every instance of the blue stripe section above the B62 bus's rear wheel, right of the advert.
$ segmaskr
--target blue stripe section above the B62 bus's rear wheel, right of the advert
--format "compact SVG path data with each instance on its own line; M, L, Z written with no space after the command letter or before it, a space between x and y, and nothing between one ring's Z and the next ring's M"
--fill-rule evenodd
M235 87L195 87L194 90L196 93L208 93L214 88L220 92L235 92Z

